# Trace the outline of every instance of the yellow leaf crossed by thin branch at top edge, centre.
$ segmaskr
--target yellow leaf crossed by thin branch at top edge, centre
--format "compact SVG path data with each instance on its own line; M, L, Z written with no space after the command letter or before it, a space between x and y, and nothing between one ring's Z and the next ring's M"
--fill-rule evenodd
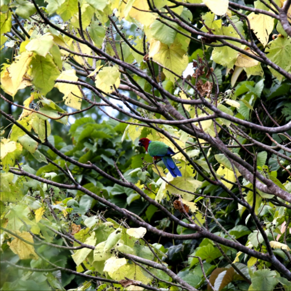
M148 7L147 4L147 0L135 0L133 5L134 7L132 7L129 11L129 16L131 18L136 19L137 21L139 21L141 24L145 25L145 26L150 26L156 19L156 14L151 13L150 9ZM141 9L144 11L148 11L148 12L141 12L137 9Z

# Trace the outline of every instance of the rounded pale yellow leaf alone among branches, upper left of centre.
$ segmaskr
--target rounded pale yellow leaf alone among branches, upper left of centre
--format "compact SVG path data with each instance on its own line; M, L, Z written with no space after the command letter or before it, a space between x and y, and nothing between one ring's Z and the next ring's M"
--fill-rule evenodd
M106 93L114 91L113 85L116 88L120 85L120 72L117 67L104 67L99 71L95 79L95 84L98 89Z

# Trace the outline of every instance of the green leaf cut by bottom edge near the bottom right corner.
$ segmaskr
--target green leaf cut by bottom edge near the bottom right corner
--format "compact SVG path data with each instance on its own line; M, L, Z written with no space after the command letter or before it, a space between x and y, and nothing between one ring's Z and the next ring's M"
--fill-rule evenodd
M273 290L278 282L275 271L269 269L258 270L252 276L252 285L254 290Z

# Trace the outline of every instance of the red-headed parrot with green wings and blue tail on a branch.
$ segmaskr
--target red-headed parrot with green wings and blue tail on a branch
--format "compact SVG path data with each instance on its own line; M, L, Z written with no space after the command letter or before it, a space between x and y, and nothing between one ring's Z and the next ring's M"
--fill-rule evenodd
M176 178L177 176L182 177L182 174L176 166L171 154L175 154L174 151L162 141L152 141L148 138L141 138L138 143L139 146L143 146L146 152L154 159L161 158L166 168L169 170L171 175Z

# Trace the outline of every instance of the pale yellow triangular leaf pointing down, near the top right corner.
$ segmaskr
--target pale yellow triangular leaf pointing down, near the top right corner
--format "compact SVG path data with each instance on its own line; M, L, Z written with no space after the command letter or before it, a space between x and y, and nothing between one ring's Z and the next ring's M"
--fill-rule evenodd
M266 46L269 40L269 35L273 31L274 18L264 14L255 14L252 12L247 16L250 21L251 29L257 35L260 43Z

